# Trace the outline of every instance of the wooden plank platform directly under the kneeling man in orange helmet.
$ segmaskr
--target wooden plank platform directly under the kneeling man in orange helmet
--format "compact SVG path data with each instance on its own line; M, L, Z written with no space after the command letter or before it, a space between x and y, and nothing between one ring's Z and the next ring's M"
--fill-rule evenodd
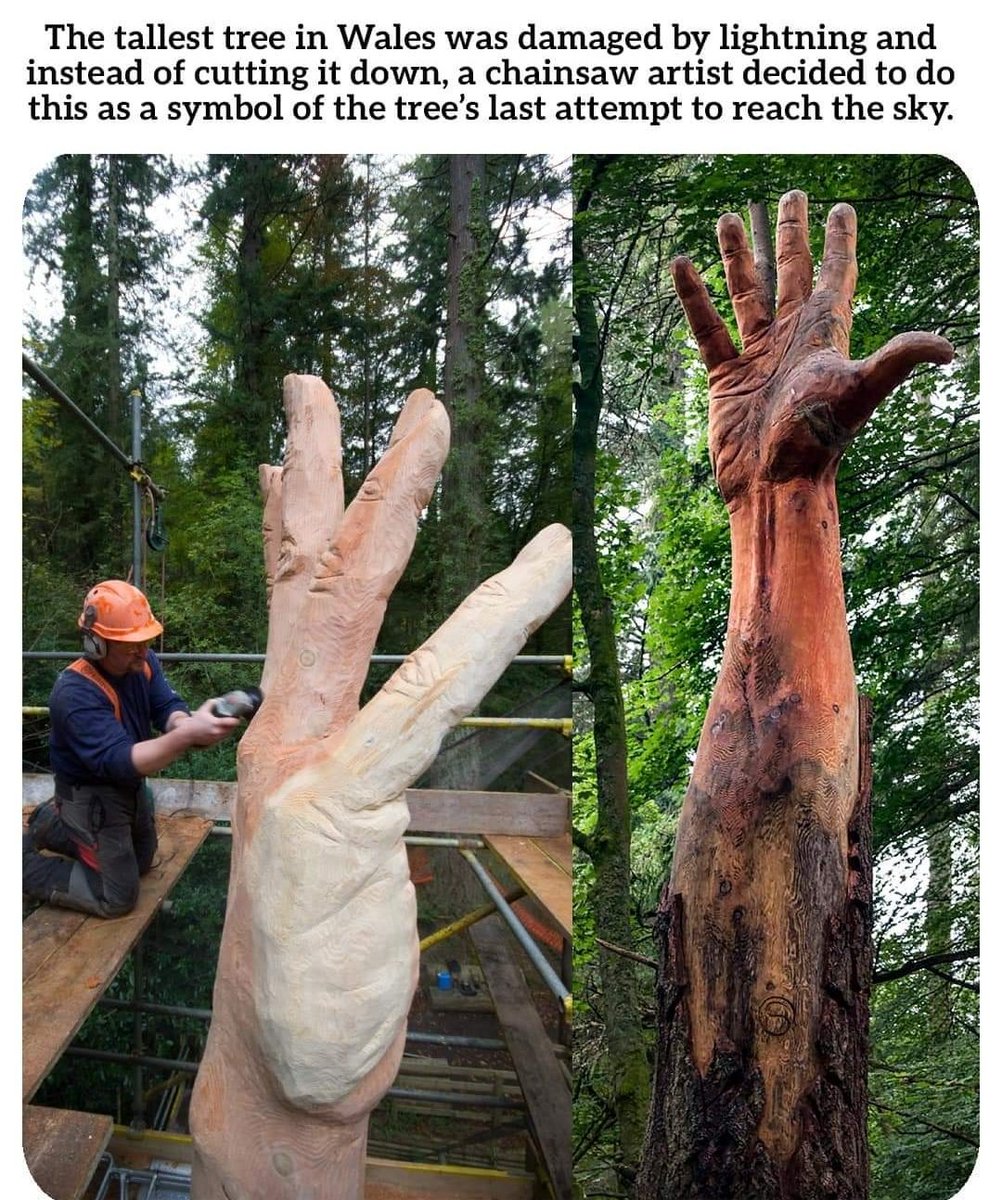
M42 905L22 925L22 1099L29 1100L83 1025L205 840L204 817L157 817L154 866L125 917Z

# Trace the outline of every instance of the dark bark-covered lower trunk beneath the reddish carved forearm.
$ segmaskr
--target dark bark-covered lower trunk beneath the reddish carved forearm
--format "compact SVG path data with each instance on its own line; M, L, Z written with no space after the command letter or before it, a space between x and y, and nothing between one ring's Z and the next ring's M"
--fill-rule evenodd
M810 778L816 766L802 763L785 780ZM778 821L775 810L791 793L772 779L742 787L748 814L734 814L726 854L718 839L700 848L700 832L686 830L688 886L673 876L656 929L658 1068L638 1198L869 1195L865 697L858 778L844 850L803 793ZM746 852L752 845L757 852ZM700 871L702 887L692 878Z

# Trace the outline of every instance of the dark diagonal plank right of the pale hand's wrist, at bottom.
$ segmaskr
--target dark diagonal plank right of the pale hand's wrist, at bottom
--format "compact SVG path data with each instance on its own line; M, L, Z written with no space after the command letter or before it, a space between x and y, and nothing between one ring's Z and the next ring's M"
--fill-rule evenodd
M571 1098L553 1045L515 958L500 917L469 930L518 1075L529 1123L557 1200L571 1196Z

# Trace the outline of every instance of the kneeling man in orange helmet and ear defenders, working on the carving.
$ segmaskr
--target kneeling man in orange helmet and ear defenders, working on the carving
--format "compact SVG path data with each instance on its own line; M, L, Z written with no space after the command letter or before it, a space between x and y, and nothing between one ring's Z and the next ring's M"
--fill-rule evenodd
M77 624L84 655L49 696L55 796L29 820L22 889L65 908L121 917L136 906L139 877L156 852L146 775L229 737L240 721L216 715L212 700L190 712L149 649L163 626L131 583L91 588Z

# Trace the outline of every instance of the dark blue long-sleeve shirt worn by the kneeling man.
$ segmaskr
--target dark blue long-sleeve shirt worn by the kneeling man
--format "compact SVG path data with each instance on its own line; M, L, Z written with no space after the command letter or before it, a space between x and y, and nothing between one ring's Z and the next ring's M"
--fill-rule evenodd
M77 671L64 671L49 696L49 764L53 773L72 786L118 784L133 786L143 778L132 766L132 748L154 730L163 732L172 713L188 707L167 682L160 661L146 650L145 672L110 676L92 665L119 696L121 721L112 702Z

